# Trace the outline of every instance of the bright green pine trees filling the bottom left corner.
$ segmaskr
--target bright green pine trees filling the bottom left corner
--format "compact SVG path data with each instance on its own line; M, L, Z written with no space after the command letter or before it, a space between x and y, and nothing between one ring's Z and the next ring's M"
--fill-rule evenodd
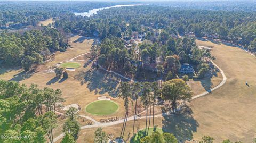
M57 127L55 104L63 101L61 95L59 89L0 80L0 142L46 142L46 134L51 140Z

